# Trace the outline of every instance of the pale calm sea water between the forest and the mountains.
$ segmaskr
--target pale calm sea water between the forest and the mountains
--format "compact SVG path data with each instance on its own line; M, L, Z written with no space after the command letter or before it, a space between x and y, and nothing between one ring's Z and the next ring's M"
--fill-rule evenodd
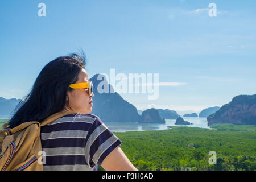
M193 125L175 125L176 119L166 119L165 124L159 123L125 123L125 122L104 122L105 125L111 131L125 132L125 131L145 131L145 130L167 130L167 126L188 126L188 127L200 127L205 129L211 129L207 126L207 118L199 117L183 117L184 121L193 123Z

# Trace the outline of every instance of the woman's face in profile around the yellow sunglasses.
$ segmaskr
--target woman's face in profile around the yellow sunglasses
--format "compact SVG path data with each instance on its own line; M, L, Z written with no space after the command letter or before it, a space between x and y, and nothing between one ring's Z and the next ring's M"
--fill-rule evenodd
M88 74L86 73L85 69L82 68L79 74L79 80L77 83L89 82ZM68 98L69 98L69 108L72 111L77 113L90 113L92 112L92 96L89 96L89 89L88 88L79 88L73 89L72 91L68 91ZM68 109L69 110L69 109Z

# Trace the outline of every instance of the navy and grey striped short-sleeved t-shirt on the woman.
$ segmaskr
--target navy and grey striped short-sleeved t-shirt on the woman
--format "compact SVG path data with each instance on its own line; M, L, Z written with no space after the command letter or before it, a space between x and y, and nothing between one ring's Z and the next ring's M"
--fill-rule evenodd
M43 169L90 170L122 141L94 114L69 114L41 127Z

